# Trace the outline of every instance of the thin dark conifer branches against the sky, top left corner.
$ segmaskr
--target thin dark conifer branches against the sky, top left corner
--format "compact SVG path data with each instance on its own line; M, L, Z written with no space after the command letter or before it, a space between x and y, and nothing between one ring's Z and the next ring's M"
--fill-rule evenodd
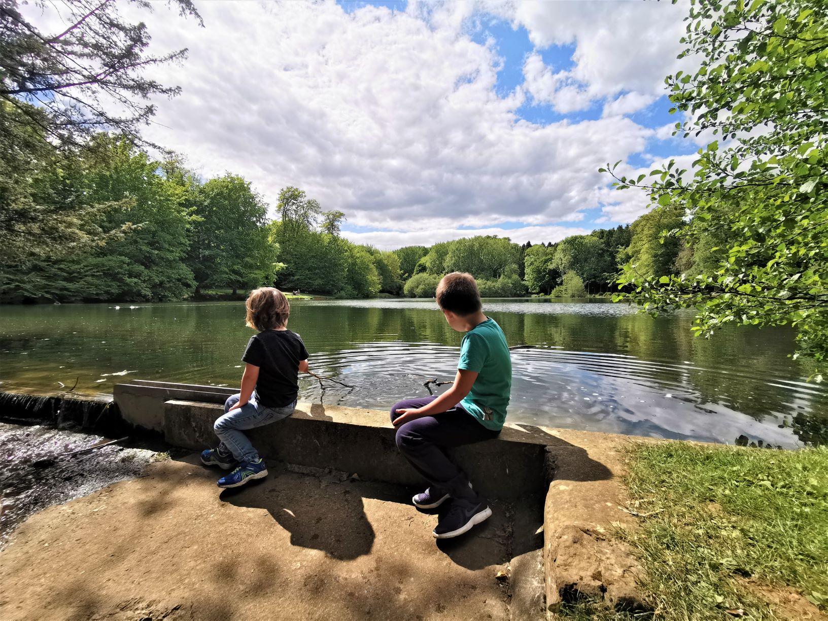
M191 0L175 3L182 16L201 23ZM152 9L147 0L132 4ZM102 128L136 141L138 127L155 113L150 99L181 90L145 78L145 71L184 59L186 50L148 54L147 26L124 22L118 2L63 0L36 6L51 9L49 22L60 23L59 30L43 32L26 21L17 0L0 1L0 101L5 103L0 123L18 136L22 128L36 128L57 145L79 145Z

